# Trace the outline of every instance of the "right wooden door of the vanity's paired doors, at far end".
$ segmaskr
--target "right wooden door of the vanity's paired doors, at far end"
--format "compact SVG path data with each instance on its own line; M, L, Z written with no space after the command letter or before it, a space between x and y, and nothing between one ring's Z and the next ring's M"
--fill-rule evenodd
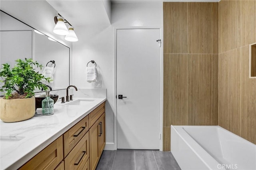
M100 124L100 135L98 136L98 148L99 148L98 152L99 152L99 156L101 156L106 144L105 113L100 117L99 124Z

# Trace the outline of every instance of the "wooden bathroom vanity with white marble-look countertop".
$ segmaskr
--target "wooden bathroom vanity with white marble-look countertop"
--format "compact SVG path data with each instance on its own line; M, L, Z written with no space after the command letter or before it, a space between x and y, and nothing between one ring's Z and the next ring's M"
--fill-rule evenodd
M105 101L57 102L54 115L0 122L0 169L95 169L105 146Z

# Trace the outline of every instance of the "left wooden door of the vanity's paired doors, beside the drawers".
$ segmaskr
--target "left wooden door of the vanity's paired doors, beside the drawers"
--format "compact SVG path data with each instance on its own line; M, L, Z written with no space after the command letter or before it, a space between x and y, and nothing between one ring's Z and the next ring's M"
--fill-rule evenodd
M98 136L100 135L99 120L89 130L90 134L90 170L95 170L99 160Z

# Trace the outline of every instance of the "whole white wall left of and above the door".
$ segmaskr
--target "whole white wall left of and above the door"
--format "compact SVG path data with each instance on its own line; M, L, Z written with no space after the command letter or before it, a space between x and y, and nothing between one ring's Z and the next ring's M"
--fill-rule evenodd
M115 30L116 28L163 28L162 2L114 3L111 26L76 27L79 41L73 44L72 82L79 88L93 88L86 82L86 64L97 63L102 88L107 89L106 147L116 149L116 85Z

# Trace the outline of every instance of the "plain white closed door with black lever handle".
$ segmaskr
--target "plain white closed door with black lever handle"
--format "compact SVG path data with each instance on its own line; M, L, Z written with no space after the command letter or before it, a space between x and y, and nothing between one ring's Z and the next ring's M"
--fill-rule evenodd
M118 149L160 148L158 39L159 29L117 30Z

